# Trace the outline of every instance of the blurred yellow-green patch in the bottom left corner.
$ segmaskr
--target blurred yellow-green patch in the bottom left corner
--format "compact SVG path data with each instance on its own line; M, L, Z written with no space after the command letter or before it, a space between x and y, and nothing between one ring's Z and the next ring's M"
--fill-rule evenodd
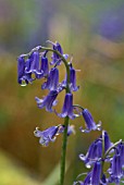
M14 159L0 151L0 184L1 185L39 185L28 172Z

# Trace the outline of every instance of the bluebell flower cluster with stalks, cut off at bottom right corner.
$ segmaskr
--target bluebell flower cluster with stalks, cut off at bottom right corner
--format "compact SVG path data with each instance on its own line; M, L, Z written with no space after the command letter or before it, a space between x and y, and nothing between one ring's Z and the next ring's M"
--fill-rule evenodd
M102 135L89 146L86 155L80 153L79 159L87 169L91 169L84 181L76 181L74 185L119 185L124 177L124 143L111 143L109 135L102 131ZM108 163L103 169L104 163ZM84 175L84 174L80 174ZM80 176L78 175L78 177Z

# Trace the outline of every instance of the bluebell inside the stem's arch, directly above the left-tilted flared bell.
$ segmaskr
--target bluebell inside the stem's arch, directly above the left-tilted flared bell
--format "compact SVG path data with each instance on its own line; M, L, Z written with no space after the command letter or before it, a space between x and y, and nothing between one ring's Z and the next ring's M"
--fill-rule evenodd
M41 89L57 90L59 86L59 70L53 67L50 70L47 82L41 85Z

